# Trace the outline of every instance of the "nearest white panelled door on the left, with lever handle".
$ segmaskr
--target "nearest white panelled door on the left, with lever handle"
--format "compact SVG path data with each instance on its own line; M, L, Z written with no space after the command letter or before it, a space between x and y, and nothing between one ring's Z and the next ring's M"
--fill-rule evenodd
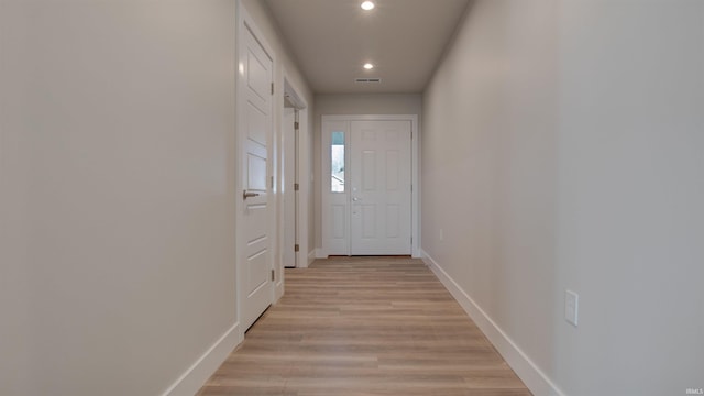
M242 297L243 328L248 329L272 304L272 238L268 176L272 130L273 61L254 35L244 29L241 51L243 117L241 177L244 189L241 216L240 263L245 293Z

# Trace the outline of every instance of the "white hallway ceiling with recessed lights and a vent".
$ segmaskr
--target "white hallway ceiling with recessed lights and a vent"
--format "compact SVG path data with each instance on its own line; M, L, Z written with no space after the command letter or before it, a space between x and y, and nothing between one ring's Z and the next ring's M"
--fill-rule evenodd
M264 0L316 94L421 92L468 0ZM362 65L373 63L365 70ZM377 77L380 84L355 78Z

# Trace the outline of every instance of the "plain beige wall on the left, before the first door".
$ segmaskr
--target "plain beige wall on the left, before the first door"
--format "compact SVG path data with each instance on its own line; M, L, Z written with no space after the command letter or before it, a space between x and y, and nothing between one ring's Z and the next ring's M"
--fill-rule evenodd
M233 327L234 12L0 3L0 394L158 395Z

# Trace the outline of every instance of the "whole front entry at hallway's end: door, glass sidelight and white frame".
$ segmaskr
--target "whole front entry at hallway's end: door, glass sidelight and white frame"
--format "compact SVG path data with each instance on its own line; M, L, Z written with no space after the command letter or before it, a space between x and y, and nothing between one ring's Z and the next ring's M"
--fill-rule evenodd
M322 254L417 256L416 116L322 117Z

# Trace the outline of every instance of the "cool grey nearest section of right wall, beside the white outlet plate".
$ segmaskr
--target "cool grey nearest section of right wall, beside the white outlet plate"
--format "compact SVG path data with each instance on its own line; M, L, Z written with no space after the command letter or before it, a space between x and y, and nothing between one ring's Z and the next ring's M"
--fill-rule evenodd
M560 32L558 286L582 324L557 378L704 388L704 2L565 1Z

